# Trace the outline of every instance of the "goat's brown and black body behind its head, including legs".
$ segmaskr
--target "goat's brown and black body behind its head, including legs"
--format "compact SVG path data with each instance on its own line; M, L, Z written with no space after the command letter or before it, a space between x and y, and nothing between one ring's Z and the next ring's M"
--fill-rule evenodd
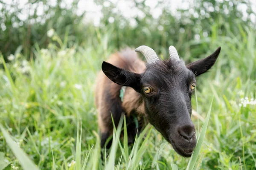
M126 48L112 54L108 62L137 74L143 73L146 69L145 62L131 48ZM145 115L145 108L141 95L134 91L133 88L127 87L123 96L123 102L121 102L119 97L121 88L121 85L111 81L103 71L99 72L96 79L95 103L99 128L102 133L101 147L104 146L106 139L113 133L111 113L116 126L119 123L121 114L125 113L129 143L133 142L134 136L137 133L137 128L135 128L131 114L137 116L140 121L140 127L143 126L144 116L142 115ZM110 144L108 144L109 146Z

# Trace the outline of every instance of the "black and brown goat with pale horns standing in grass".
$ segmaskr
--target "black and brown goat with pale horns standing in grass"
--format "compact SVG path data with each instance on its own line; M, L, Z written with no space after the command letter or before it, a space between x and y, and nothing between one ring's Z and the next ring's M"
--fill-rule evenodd
M108 62L103 61L95 94L101 147L113 133L111 114L117 126L124 113L129 143L133 142L137 131L150 123L178 154L190 157L196 145L195 126L191 120L195 77L215 64L220 51L218 47L208 57L185 65L174 46L169 47L169 59L162 61L152 48L142 45L135 51L127 48L117 52ZM136 52L145 56L146 65ZM120 91L124 92L121 98ZM106 147L110 146L111 141Z

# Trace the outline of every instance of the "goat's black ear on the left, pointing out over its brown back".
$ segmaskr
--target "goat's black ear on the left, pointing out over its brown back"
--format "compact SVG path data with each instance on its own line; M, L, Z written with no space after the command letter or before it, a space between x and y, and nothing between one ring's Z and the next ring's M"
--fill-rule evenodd
M102 62L102 71L112 82L118 85L129 86L137 92L140 91L140 74L116 67L105 61Z

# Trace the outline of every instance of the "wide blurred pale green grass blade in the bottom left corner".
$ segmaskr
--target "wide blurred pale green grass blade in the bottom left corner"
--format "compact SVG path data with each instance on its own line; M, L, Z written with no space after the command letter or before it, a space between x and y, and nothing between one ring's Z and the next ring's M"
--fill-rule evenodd
M20 147L18 147L17 144L12 140L12 137L3 128L1 124L0 129L2 130L3 136L6 139L6 143L9 145L12 152L15 154L23 170L39 170L38 167L29 159L26 153L24 153L24 151L20 149Z

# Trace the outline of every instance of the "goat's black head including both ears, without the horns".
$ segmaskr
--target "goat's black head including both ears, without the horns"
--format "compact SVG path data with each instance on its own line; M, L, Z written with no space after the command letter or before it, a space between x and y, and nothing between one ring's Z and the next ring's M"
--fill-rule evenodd
M149 122L178 154L189 157L196 145L195 126L191 120L195 76L209 70L219 53L220 48L209 57L189 65L183 61L158 61L147 65L143 74L107 62L102 63L102 71L113 82L130 86L142 94Z

